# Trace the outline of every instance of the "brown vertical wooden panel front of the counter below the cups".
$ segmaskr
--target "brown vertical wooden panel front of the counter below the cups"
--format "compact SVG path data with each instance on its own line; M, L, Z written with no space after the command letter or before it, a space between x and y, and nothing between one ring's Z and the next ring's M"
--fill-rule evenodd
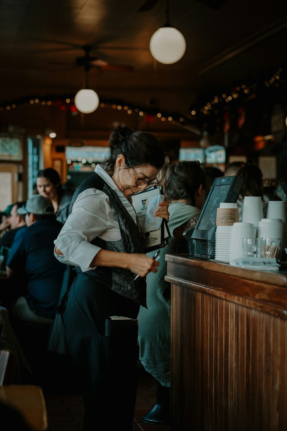
M172 430L287 429L287 321L172 284Z

